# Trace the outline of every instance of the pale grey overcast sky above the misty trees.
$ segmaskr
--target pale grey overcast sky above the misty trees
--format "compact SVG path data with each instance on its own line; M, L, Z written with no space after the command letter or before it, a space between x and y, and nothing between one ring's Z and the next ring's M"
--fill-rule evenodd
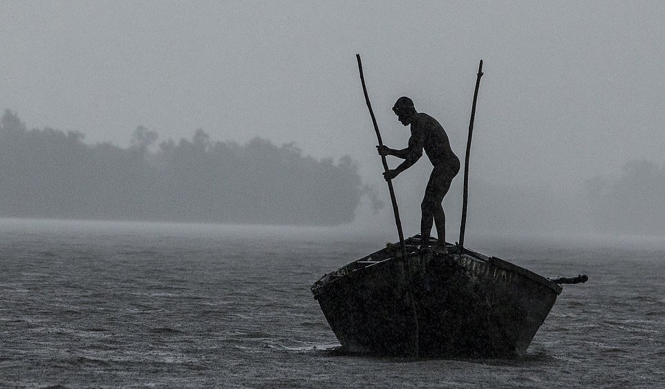
M88 142L203 128L348 154L380 182L360 53L384 142L406 145L391 106L408 95L460 159L484 59L471 168L487 182L574 190L665 160L663 1L0 4L0 108Z

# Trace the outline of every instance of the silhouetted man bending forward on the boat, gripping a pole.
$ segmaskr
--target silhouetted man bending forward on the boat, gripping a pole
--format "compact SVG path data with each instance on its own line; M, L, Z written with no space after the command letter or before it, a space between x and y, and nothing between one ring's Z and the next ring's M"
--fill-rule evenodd
M429 248L429 234L433 220L439 241L433 250L446 254L446 215L441 203L448 193L453 177L460 171L460 160L451 150L448 135L441 124L427 113L415 111L413 101L409 97L397 99L393 111L404 126L411 124L411 137L409 137L409 146L406 149L394 150L387 146L377 146L380 155L395 155L404 160L397 168L386 171L384 178L386 181L392 180L402 171L409 169L422 156L422 149L425 150L434 169L429 176L425 196L420 205L420 209L422 209L421 249L431 249Z

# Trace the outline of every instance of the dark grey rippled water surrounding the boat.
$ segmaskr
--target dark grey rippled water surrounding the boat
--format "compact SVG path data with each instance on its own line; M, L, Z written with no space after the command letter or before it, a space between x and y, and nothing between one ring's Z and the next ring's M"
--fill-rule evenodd
M590 281L565 286L521 359L387 359L335 352L309 290L377 242L33 227L0 228L1 387L665 386L665 247L471 247Z

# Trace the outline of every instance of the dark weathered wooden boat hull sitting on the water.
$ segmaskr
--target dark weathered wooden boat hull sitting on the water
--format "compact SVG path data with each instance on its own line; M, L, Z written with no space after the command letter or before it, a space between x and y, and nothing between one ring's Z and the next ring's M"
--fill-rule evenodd
M496 257L451 244L449 254L421 254L420 236L405 243L406 260L399 245L388 245L312 286L346 352L518 356L562 290L556 282Z

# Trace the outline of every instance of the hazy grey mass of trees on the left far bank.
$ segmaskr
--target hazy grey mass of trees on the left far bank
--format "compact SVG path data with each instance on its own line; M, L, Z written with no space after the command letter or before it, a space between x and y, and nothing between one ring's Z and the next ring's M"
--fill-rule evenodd
M350 222L364 189L357 164L318 160L259 137L241 145L165 140L143 126L130 146L0 120L0 216L285 225Z

